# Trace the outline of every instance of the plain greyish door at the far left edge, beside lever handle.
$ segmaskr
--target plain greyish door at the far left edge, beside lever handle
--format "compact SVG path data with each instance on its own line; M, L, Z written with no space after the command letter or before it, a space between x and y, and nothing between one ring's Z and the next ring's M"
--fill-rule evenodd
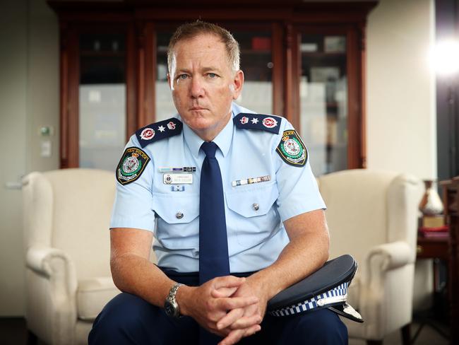
M27 131L27 20L25 1L0 11L0 315L23 311L23 242L20 190L6 189L25 172Z

